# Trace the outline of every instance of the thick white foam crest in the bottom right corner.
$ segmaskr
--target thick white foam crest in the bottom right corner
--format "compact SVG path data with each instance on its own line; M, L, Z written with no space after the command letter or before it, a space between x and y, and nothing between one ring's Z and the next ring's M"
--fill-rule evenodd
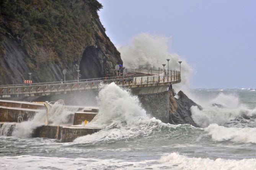
M244 170L256 169L256 159L209 159L190 158L178 153L171 153L161 157L160 162L176 170Z

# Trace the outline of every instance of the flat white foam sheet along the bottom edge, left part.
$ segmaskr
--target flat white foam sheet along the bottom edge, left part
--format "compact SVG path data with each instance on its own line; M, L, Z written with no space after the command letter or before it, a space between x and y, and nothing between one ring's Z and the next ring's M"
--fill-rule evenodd
M30 155L20 155L15 157L1 157L0 168L8 170L24 169L86 169L86 170L123 170L123 169L145 169L157 168L157 165L152 165L152 160L127 162L118 159L96 159L96 158L65 158L65 157L40 157Z

